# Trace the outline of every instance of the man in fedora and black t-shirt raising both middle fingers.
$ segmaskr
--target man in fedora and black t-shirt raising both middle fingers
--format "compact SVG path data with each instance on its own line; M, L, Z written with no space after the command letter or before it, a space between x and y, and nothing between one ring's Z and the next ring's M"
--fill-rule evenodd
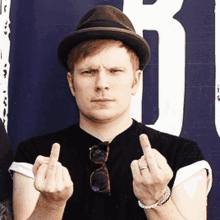
M112 6L91 9L61 41L79 123L19 145L15 220L206 219L211 168L196 143L130 118L149 54Z

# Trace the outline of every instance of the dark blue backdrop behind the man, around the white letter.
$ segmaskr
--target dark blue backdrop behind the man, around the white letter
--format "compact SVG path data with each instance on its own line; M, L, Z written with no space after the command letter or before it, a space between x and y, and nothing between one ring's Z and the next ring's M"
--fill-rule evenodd
M144 0L143 4L155 2ZM8 131L14 152L18 143L27 138L78 122L66 71L57 60L57 45L74 31L91 7L104 4L123 10L122 0L12 1ZM185 100L180 136L195 140L213 169L208 206L210 220L220 219L214 7L214 0L184 0L174 16L186 32ZM158 33L144 30L143 36L150 44L152 57L144 74L142 121L153 124L159 114Z

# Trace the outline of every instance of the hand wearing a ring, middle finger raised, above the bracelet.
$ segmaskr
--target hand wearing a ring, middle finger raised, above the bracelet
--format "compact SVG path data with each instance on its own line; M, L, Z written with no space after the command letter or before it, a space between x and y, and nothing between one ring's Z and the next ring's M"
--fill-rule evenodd
M173 171L166 158L151 148L146 134L140 135L140 143L144 155L131 163L133 190L142 204L152 205L165 193Z

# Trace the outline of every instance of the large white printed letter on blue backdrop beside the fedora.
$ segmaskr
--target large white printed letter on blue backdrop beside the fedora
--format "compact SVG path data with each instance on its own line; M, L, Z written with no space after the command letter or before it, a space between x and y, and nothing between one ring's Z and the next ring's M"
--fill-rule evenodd
M138 34L142 36L144 29L156 30L159 36L159 117L149 126L179 135L184 107L185 30L173 16L181 9L183 0L157 0L153 5L142 2L124 0L123 11ZM142 115L142 91L140 85L131 105L131 117L138 121Z

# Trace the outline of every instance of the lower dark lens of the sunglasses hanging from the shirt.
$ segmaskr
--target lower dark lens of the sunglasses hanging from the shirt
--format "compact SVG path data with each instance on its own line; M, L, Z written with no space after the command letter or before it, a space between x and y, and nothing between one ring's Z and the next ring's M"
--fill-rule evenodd
M96 171L91 177L91 187L95 192L106 190L108 187L108 178L102 170Z

